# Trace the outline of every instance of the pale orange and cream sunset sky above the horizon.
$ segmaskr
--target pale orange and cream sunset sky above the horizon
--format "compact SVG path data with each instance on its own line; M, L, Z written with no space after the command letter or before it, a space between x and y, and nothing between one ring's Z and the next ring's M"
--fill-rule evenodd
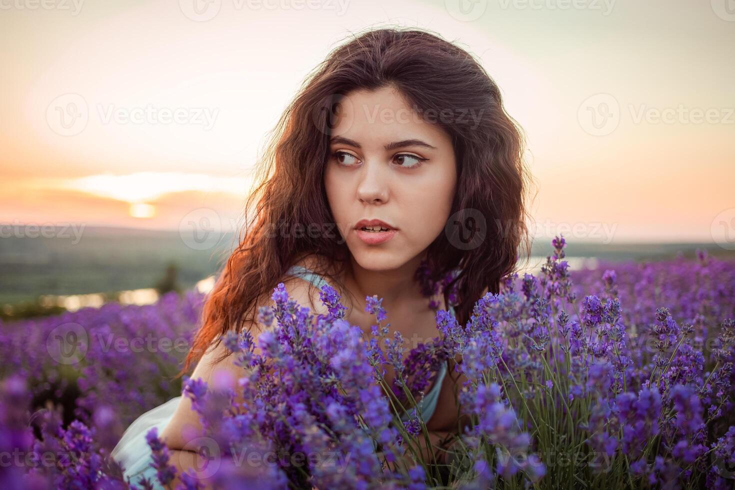
M398 25L458 43L501 87L540 231L735 237L728 1L0 1L0 223L234 223L306 74L350 33Z

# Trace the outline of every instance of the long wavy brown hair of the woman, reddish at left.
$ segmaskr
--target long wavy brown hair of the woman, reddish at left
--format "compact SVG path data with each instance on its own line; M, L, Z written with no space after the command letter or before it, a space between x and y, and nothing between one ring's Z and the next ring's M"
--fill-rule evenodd
M329 270L318 272L344 286L339 275L350 252L340 231L309 233L308 227L334 223L323 173L340 99L353 90L387 86L419 114L467 115L464 123L432 121L451 135L458 180L451 222L429 245L426 264L432 281L461 270L440 292L448 305L448 292L455 289L457 320L467 323L476 301L487 291L498 292L503 276L519 262L522 245L527 259L531 177L523 132L503 108L495 82L467 51L431 32L397 28L352 35L309 74L270 132L245 203L239 245L209 293L179 376L212 342L221 342L221 334L254 325L257 306L268 303L278 281L301 258L328 257ZM301 233L294 232L298 227ZM465 245L468 229L482 235L473 246Z

